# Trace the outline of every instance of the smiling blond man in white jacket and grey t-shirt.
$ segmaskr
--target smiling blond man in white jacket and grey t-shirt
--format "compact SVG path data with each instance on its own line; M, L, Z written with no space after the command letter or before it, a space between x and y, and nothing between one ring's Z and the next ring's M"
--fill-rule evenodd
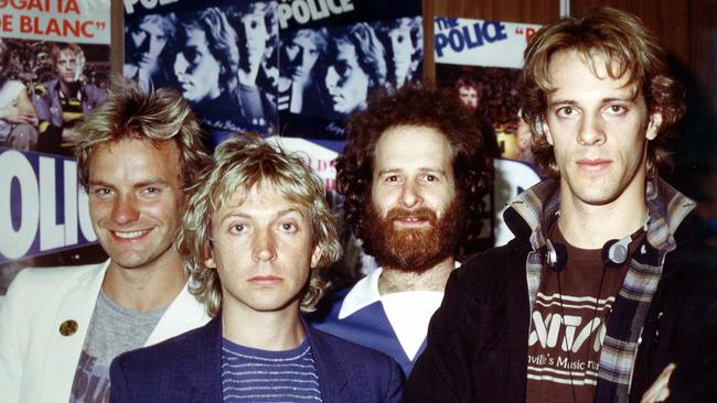
M117 355L208 320L174 247L185 193L211 164L186 101L118 79L79 131L79 183L109 260L18 274L0 305L3 402L103 401Z

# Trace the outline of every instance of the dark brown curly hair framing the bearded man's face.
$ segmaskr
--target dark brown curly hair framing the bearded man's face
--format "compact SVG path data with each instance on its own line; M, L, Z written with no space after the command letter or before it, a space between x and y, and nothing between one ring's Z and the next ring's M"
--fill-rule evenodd
M360 239L366 239L367 204L371 202L373 159L378 139L389 128L418 126L441 132L453 149L456 197L460 197L467 219L461 222L462 242L457 254L477 251L484 196L493 184L493 161L485 152L483 134L475 118L462 106L453 90L404 86L383 90L365 110L346 123L346 144L336 159L336 188L344 196L345 221ZM368 254L373 254L365 242Z

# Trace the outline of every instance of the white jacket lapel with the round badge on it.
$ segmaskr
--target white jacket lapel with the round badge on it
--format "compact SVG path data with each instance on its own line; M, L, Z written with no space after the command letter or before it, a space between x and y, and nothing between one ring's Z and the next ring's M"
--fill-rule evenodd
M41 402L69 400L79 353L108 265L109 260L95 268L88 268L86 273L81 274L76 286L60 302L55 322L49 324L52 336L41 379L44 379L50 385L42 388ZM69 334L65 331L67 336L64 336L61 334L60 327L68 320L76 323L76 331Z

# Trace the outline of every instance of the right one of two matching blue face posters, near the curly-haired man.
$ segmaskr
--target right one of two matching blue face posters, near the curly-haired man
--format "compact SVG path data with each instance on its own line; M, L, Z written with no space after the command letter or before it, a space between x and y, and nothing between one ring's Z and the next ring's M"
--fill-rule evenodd
M373 91L422 79L421 2L345 1L314 18L302 3L285 1L279 13L281 133L341 151L346 118Z

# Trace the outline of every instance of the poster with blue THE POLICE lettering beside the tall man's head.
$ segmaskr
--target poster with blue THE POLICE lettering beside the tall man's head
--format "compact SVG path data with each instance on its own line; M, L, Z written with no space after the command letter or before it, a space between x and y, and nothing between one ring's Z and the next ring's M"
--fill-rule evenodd
M492 237L504 244L512 238L503 222L505 203L541 179L516 88L523 52L541 25L436 17L434 26L438 86L453 88L495 148Z

